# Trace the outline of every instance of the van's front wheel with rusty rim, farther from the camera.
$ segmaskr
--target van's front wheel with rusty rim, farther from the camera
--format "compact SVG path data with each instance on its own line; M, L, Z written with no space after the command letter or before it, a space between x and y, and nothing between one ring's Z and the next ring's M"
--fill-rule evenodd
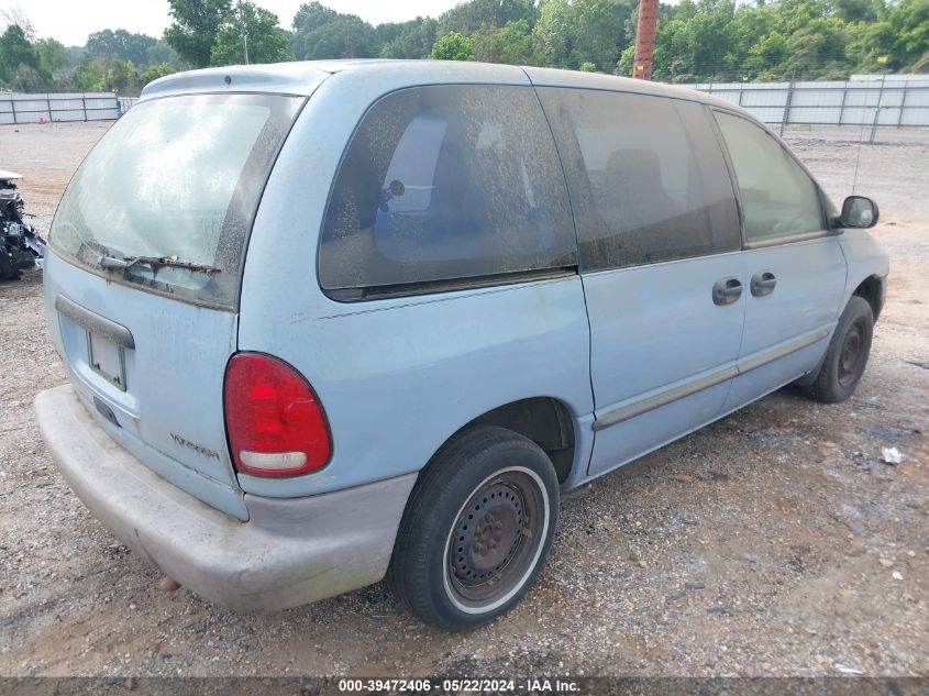
M823 404L838 404L854 394L871 354L874 313L863 297L853 295L845 306L826 357L807 394Z

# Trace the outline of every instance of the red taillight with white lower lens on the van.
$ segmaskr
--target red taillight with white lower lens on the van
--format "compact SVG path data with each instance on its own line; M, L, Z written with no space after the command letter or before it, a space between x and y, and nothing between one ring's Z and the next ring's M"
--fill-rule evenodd
M255 476L296 476L329 462L332 443L312 387L290 365L261 353L229 361L223 393L235 468Z

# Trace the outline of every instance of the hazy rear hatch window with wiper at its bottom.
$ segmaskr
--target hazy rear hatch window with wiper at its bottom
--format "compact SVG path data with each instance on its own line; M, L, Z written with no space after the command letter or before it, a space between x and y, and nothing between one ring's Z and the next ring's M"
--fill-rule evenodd
M302 98L142 101L81 164L52 246L118 281L234 309L252 219Z

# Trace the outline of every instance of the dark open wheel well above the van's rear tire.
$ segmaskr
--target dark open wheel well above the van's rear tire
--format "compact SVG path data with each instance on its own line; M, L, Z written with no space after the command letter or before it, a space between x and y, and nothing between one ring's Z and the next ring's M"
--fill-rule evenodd
M497 426L529 438L545 451L558 483L564 483L574 464L574 419L560 400L551 397L521 399L487 411L467 423L472 426ZM455 433L457 434L457 433Z

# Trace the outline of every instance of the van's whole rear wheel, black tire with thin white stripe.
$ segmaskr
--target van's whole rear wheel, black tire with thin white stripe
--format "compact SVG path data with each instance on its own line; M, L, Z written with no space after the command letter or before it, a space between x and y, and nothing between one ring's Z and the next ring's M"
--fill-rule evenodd
M549 456L528 438L480 426L446 443L407 504L387 572L399 604L446 630L512 608L542 570L558 516Z

